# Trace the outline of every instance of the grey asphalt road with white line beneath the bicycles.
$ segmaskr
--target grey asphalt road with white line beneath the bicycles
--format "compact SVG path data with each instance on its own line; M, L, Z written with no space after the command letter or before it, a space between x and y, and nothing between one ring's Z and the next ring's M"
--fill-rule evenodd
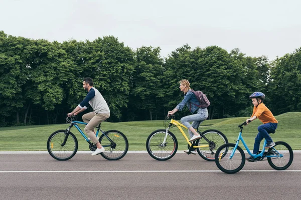
M272 169L247 162L235 174L221 172L199 155L177 153L158 161L127 153L109 161L76 154L0 154L0 199L301 199L301 154L291 166Z

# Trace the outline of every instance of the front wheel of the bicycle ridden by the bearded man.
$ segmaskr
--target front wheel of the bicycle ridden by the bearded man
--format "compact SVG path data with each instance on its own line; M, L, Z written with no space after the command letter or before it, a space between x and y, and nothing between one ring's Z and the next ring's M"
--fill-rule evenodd
M78 148L77 138L72 132L68 133L66 144L62 146L65 139L66 130L53 132L47 140L47 150L49 154L57 160L67 160L73 157Z

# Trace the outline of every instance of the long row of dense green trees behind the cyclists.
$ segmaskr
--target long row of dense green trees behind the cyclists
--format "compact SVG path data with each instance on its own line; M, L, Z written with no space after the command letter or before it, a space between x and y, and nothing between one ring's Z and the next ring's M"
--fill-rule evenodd
M84 77L108 102L108 121L163 119L183 99L181 79L206 93L210 119L250 115L254 91L266 94L275 115L301 111L301 48L272 61L219 46L160 52L133 50L114 36L60 43L0 31L0 126L65 122L86 96Z

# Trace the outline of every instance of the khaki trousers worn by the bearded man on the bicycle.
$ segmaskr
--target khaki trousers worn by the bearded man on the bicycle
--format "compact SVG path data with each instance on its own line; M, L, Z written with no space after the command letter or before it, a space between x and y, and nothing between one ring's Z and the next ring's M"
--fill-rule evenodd
M98 143L98 139L96 135L94 134L93 130L94 128L104 121L105 119L109 118L110 113L95 113L95 112L89 112L83 115L83 121L88 123L84 129L84 131L89 135L90 140L96 144Z

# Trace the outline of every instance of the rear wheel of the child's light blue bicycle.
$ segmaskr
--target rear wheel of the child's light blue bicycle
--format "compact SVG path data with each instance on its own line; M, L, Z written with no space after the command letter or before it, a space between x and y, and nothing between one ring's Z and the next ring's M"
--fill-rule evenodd
M277 157L267 157L267 161L271 167L276 170L284 170L288 168L293 160L293 152L290 145L284 141L276 141L276 145L269 148L267 155L276 155ZM280 157L280 154L283 156Z

